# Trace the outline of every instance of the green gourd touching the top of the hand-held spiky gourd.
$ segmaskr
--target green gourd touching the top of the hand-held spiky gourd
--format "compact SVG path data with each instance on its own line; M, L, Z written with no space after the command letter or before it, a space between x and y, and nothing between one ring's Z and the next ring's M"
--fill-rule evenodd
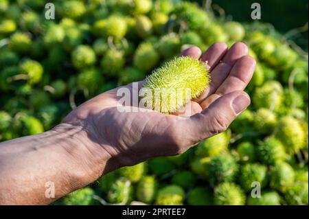
M172 58L179 54L181 49L181 41L178 35L168 34L162 36L158 43L158 51L164 58Z

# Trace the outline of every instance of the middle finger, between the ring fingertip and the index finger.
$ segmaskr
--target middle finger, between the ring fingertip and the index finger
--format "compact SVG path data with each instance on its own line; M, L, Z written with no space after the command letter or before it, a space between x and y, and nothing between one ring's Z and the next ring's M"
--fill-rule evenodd
M248 53L248 47L244 43L235 43L222 58L216 67L211 71L211 82L209 87L195 100L198 103L202 103L209 95L216 92L218 87L224 82L225 78L229 75L235 62L242 56L246 56Z

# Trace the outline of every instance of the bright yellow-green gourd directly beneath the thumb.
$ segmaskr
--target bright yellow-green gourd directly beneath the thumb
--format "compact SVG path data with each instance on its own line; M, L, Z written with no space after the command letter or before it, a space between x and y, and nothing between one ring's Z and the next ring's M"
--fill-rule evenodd
M200 157L214 157L220 154L220 152L227 150L229 139L230 135L228 132L221 132L199 143L195 153Z

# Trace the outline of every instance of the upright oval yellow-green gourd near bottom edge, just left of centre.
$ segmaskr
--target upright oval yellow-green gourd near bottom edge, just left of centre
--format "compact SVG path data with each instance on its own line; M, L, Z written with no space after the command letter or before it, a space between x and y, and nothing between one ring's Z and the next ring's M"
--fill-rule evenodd
M136 197L142 203L151 204L157 195L157 181L155 176L144 176L137 183Z

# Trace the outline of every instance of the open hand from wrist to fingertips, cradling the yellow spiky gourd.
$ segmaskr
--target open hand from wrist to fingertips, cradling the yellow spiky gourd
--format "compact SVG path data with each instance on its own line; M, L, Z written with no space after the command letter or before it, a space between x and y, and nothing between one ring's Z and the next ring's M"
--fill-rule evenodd
M117 91L136 89L128 84L78 106L54 130L77 127L77 138L91 156L89 163L104 169L95 168L96 177L150 157L180 154L199 141L225 131L249 106L249 95L243 90L253 76L255 60L247 52L244 43L236 43L230 49L225 43L215 43L204 54L198 47L183 51L181 56L207 60L211 71L211 84L197 100L190 102L188 119L157 111L120 112ZM142 83L139 82L139 88Z

